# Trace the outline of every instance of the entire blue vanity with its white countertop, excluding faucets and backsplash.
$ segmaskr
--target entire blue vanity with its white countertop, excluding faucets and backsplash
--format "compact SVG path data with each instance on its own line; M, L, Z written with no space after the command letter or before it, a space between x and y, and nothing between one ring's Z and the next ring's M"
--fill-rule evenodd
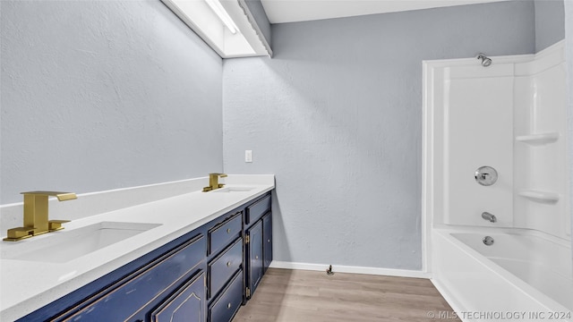
M2 320L232 320L272 260L274 177L267 179L192 191L4 242ZM73 245L67 251L58 242L78 233L77 241L83 236L104 246L76 254ZM24 246L29 250L17 250ZM57 246L64 247L50 254ZM23 295L12 299L10 288L18 285ZM6 308L6 300L13 305Z

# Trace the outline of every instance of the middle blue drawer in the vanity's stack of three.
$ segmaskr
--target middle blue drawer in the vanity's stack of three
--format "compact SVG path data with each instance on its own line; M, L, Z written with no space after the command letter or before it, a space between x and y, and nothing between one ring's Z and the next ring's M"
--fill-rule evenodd
M242 264L243 238L238 238L209 264L209 297L216 295Z

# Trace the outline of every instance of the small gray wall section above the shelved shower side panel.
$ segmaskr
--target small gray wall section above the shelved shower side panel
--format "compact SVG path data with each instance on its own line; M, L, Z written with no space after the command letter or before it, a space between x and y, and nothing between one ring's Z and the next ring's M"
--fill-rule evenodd
M565 38L564 0L535 0L535 52Z

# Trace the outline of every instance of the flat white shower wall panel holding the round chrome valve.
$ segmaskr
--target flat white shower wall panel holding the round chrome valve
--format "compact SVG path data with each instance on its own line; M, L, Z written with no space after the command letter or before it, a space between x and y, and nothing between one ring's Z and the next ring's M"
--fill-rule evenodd
M513 225L513 64L451 67L446 72L444 223ZM475 170L495 168L492 186L475 182Z

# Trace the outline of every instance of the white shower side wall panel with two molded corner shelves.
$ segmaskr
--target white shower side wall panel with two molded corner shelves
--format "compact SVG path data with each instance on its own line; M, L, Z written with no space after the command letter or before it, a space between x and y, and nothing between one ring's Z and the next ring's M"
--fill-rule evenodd
M554 139L515 142L514 225L570 239L565 76L562 44L516 64L516 138L551 134ZM541 191L556 200L525 198L524 191Z

